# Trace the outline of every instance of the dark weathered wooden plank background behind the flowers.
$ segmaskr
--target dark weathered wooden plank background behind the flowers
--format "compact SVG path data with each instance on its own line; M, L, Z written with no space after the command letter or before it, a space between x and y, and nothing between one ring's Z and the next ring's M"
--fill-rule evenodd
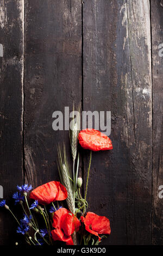
M89 210L109 217L104 245L163 244L163 1L0 0L0 185L58 179L52 113L111 111L114 149L93 153ZM86 179L88 154L80 173ZM0 212L0 244L17 241ZM14 236L13 236L14 234Z

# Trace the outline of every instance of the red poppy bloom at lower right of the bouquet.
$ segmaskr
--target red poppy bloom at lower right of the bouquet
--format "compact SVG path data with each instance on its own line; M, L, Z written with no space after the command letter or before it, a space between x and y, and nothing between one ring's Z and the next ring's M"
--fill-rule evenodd
M85 229L93 235L98 236L99 241L101 238L98 234L109 234L111 232L110 229L110 221L108 218L104 216L98 216L93 212L87 212L85 217L81 217L82 222L85 224Z

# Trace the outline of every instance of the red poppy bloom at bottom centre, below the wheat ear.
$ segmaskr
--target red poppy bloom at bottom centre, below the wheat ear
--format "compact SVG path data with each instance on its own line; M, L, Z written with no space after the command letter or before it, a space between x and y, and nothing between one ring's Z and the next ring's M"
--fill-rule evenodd
M80 225L78 218L74 217L70 211L60 208L53 215L53 227L55 228L51 231L53 240L66 242L66 245L73 245L71 235L75 230L79 230Z

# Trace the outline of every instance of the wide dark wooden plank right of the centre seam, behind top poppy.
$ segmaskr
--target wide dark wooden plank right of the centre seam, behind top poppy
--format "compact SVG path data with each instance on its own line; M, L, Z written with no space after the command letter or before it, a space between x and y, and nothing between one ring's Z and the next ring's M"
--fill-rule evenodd
M110 218L112 231L104 244L150 244L149 1L85 0L83 35L84 110L111 111L110 138L114 147L92 155L89 210Z

